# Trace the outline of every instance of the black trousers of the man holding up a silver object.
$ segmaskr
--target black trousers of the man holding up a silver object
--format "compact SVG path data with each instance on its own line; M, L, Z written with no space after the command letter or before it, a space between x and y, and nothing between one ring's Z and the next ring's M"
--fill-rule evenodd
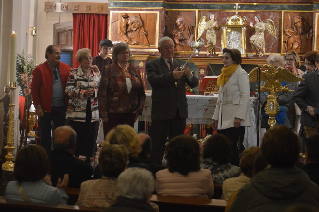
M186 119L181 118L178 109L176 109L176 115L173 119L152 119L152 151L150 159L158 164L162 164L167 135L169 140L178 135L183 135L185 127Z

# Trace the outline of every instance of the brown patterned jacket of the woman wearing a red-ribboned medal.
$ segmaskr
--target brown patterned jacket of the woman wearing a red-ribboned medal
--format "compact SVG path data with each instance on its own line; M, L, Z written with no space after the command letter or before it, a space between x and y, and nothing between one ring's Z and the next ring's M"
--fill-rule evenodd
M99 113L100 118L108 117L108 113L142 114L145 103L145 91L141 80L139 68L130 64L132 89L127 92L125 77L115 63L109 64L101 72L99 87Z

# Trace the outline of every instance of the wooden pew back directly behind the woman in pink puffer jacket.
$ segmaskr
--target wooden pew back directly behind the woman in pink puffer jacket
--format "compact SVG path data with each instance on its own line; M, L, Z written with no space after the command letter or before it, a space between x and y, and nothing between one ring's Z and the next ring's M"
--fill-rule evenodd
M223 212L227 201L190 197L152 195L151 202L158 204L160 212Z

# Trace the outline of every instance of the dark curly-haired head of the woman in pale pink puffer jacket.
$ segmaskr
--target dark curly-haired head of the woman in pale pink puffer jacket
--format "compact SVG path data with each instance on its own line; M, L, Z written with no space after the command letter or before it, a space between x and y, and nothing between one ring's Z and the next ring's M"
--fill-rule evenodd
M174 137L166 147L167 168L170 172L187 175L200 170L200 151L198 141L191 136Z

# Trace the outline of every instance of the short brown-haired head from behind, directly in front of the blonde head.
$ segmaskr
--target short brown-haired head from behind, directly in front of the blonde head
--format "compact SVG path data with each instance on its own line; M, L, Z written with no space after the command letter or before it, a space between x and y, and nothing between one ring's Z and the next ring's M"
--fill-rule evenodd
M103 146L99 164L105 177L117 178L126 168L129 155L124 145L110 144Z

